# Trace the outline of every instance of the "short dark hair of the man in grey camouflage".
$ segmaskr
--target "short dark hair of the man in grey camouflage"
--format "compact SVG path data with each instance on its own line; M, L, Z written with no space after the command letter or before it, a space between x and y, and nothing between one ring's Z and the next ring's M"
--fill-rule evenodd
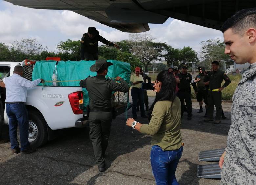
M243 35L243 30L249 27L256 28L256 7L236 12L224 22L221 31L224 33L227 29L232 28L235 34Z

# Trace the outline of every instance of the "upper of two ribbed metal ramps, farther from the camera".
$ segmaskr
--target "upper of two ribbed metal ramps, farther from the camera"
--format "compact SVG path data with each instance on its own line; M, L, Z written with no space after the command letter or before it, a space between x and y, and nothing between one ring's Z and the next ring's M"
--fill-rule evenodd
M200 161L219 161L221 155L225 151L225 148L201 151L198 154L198 160Z

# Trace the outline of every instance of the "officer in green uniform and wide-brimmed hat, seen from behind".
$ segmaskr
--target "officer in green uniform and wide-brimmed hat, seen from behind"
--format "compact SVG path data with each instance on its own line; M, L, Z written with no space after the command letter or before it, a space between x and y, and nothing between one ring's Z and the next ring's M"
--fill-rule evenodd
M90 71L97 72L97 75L80 81L80 86L88 91L90 101L89 134L99 172L105 171L105 152L112 122L112 92L129 91L127 82L119 76L116 77L116 81L120 81L120 83L106 79L108 67L111 65L113 65L111 62L104 59L96 60L95 64L90 67Z

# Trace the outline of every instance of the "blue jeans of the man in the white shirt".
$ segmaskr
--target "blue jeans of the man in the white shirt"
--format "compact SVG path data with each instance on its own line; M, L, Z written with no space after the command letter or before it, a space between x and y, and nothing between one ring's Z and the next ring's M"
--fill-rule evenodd
M6 104L6 113L9 118L9 136L11 149L19 147L17 141L17 126L20 130L21 151L30 147L28 111L23 103Z

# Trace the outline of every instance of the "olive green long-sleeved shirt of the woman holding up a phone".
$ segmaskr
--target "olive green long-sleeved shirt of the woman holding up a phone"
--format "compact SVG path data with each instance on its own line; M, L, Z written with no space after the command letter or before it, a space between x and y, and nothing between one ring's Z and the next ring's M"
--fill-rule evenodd
M173 103L168 100L156 102L150 123L142 124L140 132L153 135L151 145L162 150L176 150L182 145L181 138L181 102L175 97Z

